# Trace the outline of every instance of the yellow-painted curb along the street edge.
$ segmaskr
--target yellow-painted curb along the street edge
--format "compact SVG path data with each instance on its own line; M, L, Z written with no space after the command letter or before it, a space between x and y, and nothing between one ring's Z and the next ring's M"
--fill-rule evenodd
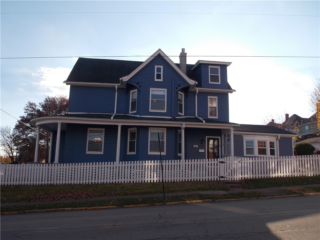
M158 204L140 204L140 205L124 205L122 207L148 207L148 206L158 206L158 205L174 205L174 204L188 204L188 203L207 203L207 202L222 202L222 201L238 201L238 200L248 200L248 199L266 199L266 198L278 198L278 197L295 197L295 196L314 196L320 195L319 193L302 193L302 194L292 194L292 195L275 195L275 196L265 196L259 198L234 198L234 199L205 199L205 200L191 200L182 202L172 202L172 203L158 203ZM93 210L93 209L108 209L108 208L121 208L117 206L102 206L102 207L79 207L79 208L53 208L53 209L42 209L42 210L26 210L20 212L1 212L0 214L17 214L17 213L38 213L38 212L60 212L60 211L73 211L73 210Z

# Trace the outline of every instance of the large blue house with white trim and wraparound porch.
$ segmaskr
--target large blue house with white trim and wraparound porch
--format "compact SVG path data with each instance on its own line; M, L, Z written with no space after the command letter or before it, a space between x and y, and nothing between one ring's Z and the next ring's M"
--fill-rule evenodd
M160 49L144 62L79 58L64 82L68 114L31 121L38 135L51 132L49 162L160 160L158 136L163 160L293 155L294 133L229 122L231 62L186 64L186 55L179 64Z

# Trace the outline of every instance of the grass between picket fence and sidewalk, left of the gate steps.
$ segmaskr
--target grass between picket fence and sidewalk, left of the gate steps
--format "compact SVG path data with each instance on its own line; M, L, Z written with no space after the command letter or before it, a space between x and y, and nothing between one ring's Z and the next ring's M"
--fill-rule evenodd
M228 190L221 181L194 181L164 183L166 193ZM30 197L41 193L77 192L91 194L94 197L130 196L162 193L162 183L109 183L74 185L8 185L1 186L0 203L28 201Z

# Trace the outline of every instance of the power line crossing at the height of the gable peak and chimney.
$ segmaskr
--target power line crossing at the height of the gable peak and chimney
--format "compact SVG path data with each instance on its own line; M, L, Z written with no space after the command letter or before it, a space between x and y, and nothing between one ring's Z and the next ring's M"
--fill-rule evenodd
M126 57L150 57L147 55L132 56L60 56L60 57L11 57L0 59L36 59L36 58L126 58ZM155 57L155 56L154 56ZM179 57L178 55L168 55L168 57ZM239 58L320 58L316 56L188 56L188 57L239 57Z

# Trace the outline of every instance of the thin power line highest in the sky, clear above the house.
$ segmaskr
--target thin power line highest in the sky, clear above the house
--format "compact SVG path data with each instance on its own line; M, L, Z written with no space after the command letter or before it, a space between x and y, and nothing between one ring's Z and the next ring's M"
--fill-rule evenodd
M225 13L225 12L2 12L1 14L207 14L207 15L257 15L257 16L289 16L289 17L320 17L319 15L296 14L259 14L259 13Z

